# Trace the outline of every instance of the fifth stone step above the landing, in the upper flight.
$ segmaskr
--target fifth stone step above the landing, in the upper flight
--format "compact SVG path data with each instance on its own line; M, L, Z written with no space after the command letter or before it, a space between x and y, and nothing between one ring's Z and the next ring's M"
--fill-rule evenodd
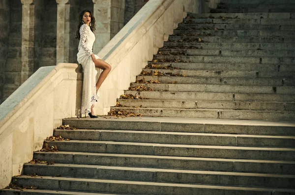
M148 79L151 76L138 76L138 79L141 79L145 77L145 80L148 81ZM246 86L283 86L285 84L285 81L289 80L289 84L291 85L291 82L293 83L294 79L281 79L281 78L240 78L240 77L210 77L208 76L152 76L152 79L158 80L159 82L164 82L164 83L172 83L172 82L177 82L177 84L188 84L188 88L190 87L190 84L199 84L199 85L236 85L239 86L240 89L243 89ZM156 79L158 78L158 79ZM137 83L138 85L141 85L142 83ZM179 91L180 85L177 84L170 84L170 91ZM133 84L132 84L133 85ZM136 85L136 84L134 84ZM148 84L152 85L152 84ZM244 86L242 86L244 85ZM156 85L156 86L164 86L165 89L162 90L168 90L165 85ZM167 85L166 85L167 86ZM294 85L293 85L294 86ZM198 86L200 87L200 86ZM211 86L213 87L213 86ZM203 87L204 88L204 87ZM284 88L277 88L280 90L284 90ZM271 93L276 93L277 89L271 88ZM292 86L286 86L286 89L293 89ZM160 89L159 89L160 90ZM182 89L184 90L184 89ZM192 92L195 91L201 91L204 92L205 89L200 89L200 88L195 88ZM154 89L156 91L156 89ZM189 91L189 89L185 90ZM283 91L282 91L283 92Z

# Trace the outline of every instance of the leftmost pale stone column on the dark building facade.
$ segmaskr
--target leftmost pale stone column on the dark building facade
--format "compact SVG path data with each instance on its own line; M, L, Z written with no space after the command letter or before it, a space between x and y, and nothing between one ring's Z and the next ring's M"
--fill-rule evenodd
M21 0L22 19L22 71L21 83L24 83L34 70L34 0Z

